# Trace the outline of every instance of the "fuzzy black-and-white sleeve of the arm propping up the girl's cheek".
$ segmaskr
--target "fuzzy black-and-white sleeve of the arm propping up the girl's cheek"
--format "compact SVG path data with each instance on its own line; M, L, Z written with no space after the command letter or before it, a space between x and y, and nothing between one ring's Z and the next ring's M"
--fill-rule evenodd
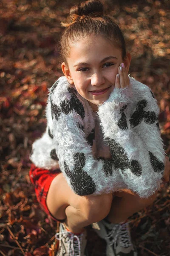
M130 86L115 88L98 111L114 169L129 189L145 198L159 188L164 172L156 102L149 87L130 78Z

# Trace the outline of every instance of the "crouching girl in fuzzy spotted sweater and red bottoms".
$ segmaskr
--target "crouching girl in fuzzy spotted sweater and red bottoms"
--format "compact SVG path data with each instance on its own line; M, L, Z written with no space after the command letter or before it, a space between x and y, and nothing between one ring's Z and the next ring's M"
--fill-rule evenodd
M127 218L156 198L169 177L151 90L128 76L119 26L89 0L62 24L62 71L50 89L47 129L33 144L30 178L40 204L60 221L57 255L88 255L85 227L106 255L133 255ZM61 172L60 172L60 170Z

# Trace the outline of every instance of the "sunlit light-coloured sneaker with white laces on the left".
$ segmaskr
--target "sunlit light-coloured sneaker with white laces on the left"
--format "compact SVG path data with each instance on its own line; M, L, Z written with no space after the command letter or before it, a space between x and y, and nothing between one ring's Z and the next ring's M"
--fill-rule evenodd
M57 256L88 256L86 236L86 230L74 234L68 231L63 223L59 223L59 233L55 235L55 238L59 240Z

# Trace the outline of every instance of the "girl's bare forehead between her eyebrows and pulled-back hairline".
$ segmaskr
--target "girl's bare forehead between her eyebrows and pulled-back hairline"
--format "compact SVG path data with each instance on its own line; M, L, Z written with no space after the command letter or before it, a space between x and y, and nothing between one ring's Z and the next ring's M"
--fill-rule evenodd
M122 51L116 47L111 40L101 35L92 35L81 38L70 44L68 61L81 60L82 62L91 59L102 59L114 55L116 58L122 57Z

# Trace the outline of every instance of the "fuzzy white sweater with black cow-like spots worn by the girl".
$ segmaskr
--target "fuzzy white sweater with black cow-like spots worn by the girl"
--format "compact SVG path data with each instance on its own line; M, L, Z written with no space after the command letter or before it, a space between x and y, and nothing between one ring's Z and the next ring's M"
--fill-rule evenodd
M33 143L30 159L45 169L55 168L59 160L78 195L131 189L147 198L159 188L165 163L159 107L145 84L130 77L130 86L114 88L99 105L96 119L87 100L63 76L49 90L46 117L46 131ZM110 148L106 157L99 152L95 157L96 120L102 145Z

